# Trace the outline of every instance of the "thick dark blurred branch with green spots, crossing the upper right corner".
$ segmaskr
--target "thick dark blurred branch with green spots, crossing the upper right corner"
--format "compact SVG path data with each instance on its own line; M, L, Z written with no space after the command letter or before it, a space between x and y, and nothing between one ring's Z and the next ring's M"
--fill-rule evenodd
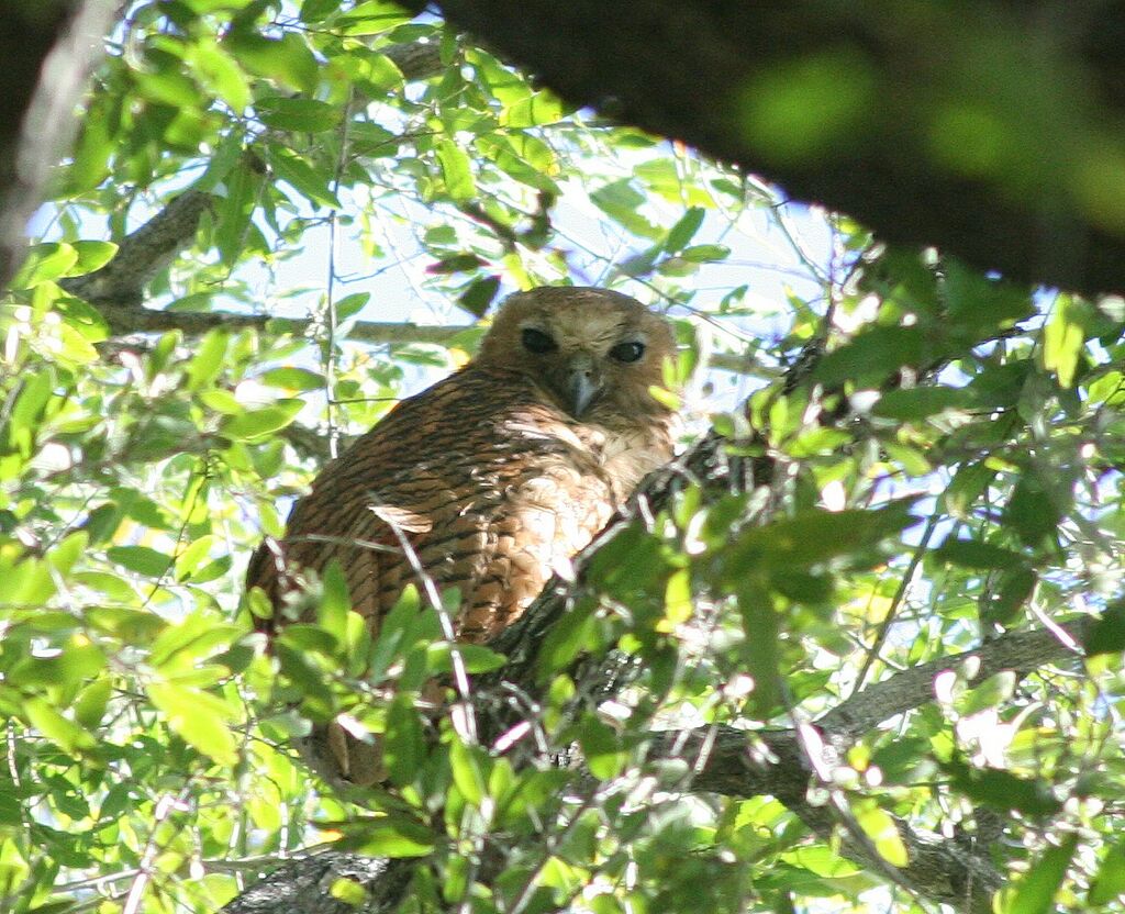
M1107 196L1125 124L1119 5L439 6L573 104L740 164L888 241L1023 281L1125 288L1125 212Z

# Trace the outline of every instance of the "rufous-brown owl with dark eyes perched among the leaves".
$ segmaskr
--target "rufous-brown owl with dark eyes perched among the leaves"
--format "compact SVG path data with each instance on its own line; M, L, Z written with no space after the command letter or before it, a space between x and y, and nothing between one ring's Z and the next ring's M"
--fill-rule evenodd
M651 388L673 355L668 324L620 293L512 295L476 358L325 466L285 537L254 554L248 586L280 610L309 571L336 559L377 635L403 588L425 575L460 591L457 637L489 640L672 457L675 416ZM333 780L380 778L378 747L339 726L312 742Z

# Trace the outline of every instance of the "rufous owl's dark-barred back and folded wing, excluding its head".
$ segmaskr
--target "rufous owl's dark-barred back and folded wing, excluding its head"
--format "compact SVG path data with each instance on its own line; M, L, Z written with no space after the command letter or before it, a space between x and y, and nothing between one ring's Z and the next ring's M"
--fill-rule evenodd
M503 373L469 368L404 401L324 468L285 538L254 555L248 585L262 588L276 610L264 627L284 622L285 597L307 570L335 558L372 634L423 571L460 589L459 637L490 639L623 496L576 428L529 379ZM378 747L339 726L313 741L345 779L381 777Z

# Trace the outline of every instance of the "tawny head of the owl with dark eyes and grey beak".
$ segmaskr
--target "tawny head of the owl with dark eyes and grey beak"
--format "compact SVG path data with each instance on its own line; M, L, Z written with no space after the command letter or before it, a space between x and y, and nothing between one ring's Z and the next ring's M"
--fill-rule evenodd
M575 419L667 413L650 393L675 355L668 323L609 289L543 286L507 298L474 364L531 377Z

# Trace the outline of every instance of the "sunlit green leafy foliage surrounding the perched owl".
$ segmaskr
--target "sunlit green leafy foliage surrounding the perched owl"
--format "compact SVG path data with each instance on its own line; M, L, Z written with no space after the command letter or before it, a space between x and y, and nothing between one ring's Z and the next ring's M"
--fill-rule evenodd
M1002 911L1119 909L1125 303L884 249L382 0L142 2L108 45L0 312L0 907L209 912L328 841L416 858L417 911L921 907L780 799L693 791L695 759L647 735L790 728L1100 615L1084 662L951 666L812 789L894 866L897 822L987 845ZM210 208L148 303L182 330L122 333L63 290L186 189ZM594 557L526 683L530 749L424 709L451 647L416 594L372 643L330 572L318 625L267 652L245 561L320 443L464 361L502 290L569 280L669 308L688 428L768 456L766 484L700 481ZM356 330L423 305L464 332ZM706 367L732 353L742 374ZM642 672L598 704L574 660L611 649ZM340 713L386 745L363 808L290 747ZM538 751L574 745L585 774Z

